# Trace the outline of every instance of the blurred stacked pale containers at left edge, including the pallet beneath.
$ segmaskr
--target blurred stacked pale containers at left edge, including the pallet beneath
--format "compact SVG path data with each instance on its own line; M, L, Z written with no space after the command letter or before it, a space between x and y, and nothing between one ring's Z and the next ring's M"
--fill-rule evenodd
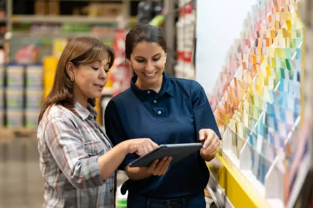
M5 71L6 76L4 76ZM3 101L0 103L0 139L36 138L37 119L43 93L42 66L1 65L0 81L2 81L0 96Z

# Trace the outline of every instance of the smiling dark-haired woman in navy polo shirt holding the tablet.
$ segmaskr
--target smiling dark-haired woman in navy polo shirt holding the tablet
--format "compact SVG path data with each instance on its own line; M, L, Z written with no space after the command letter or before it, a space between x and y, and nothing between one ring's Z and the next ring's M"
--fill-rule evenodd
M105 128L114 145L130 138L151 138L157 144L195 143L203 148L168 166L130 168L138 158L128 154L119 167L129 180L127 207L206 207L209 180L205 161L215 157L220 134L204 89L192 80L170 78L164 72L166 42L159 28L137 25L126 36L125 54L135 73L131 86L112 98L105 110ZM166 170L161 172L159 170Z

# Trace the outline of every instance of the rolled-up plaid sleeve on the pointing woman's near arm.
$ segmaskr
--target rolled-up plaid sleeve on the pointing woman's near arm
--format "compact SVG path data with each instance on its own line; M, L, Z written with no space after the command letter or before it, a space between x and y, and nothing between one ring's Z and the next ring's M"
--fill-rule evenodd
M88 157L78 129L69 118L54 117L44 134L54 160L70 183L78 189L102 186L98 157Z

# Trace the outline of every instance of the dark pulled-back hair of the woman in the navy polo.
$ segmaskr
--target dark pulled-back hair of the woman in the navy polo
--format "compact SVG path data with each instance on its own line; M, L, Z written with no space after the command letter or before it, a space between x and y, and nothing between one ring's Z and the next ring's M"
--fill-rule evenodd
M166 41L160 28L151 24L138 24L126 35L125 57L127 60L130 60L133 47L140 42L158 43L163 48L164 52L167 52ZM132 73L135 74L133 71Z

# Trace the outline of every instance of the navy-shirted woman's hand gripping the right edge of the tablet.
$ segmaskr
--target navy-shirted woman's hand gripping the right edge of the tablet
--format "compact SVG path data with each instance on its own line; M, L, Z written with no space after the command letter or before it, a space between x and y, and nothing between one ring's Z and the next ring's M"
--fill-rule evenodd
M199 139L204 142L200 155L205 161L211 161L220 148L220 139L212 129L201 129Z

